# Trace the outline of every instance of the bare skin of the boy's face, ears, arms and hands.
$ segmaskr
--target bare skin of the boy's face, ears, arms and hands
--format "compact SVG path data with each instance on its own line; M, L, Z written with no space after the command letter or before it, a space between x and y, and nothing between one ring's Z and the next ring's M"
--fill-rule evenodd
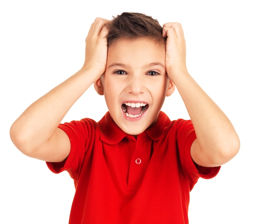
M117 125L125 132L137 135L156 121L165 96L172 94L175 85L195 128L197 139L191 146L195 163L212 167L232 159L240 148L238 135L227 116L187 71L181 25L176 22L164 24L165 47L156 48L155 43L143 38L118 40L108 49L108 30L105 27L108 22L96 18L92 24L85 40L83 67L30 105L13 123L10 136L16 147L29 157L63 161L69 155L70 141L58 124L92 83L99 94L105 95ZM141 46L142 42L147 49ZM132 46L132 52L129 46ZM115 57L117 53L121 57ZM126 54L128 60L123 60ZM140 58L141 64L135 58ZM158 65L149 66L149 63ZM150 74L155 74L152 72L159 72L159 75L152 77ZM153 88L155 85L157 88ZM128 101L142 101L148 104L148 109L139 118L128 119L121 110L122 103Z

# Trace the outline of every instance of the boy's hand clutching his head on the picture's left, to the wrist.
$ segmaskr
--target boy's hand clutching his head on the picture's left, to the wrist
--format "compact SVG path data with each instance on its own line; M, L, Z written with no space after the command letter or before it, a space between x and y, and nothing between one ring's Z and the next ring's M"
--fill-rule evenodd
M93 74L97 74L95 79L98 79L106 70L108 54L106 24L109 22L110 20L96 18L85 39L85 63L82 69L92 69Z

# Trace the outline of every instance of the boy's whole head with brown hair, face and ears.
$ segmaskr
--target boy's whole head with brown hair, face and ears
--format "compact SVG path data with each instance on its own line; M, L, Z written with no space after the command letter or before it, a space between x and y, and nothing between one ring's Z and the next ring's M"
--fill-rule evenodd
M166 74L162 27L150 16L122 13L108 29L106 71L94 87L119 128L136 136L157 121L175 89Z

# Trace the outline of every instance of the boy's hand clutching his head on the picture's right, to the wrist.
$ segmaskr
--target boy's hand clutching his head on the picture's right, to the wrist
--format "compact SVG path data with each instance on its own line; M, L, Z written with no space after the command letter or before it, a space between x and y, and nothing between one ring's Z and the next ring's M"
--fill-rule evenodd
M162 35L166 38L166 72L174 82L175 76L183 72L187 73L186 42L181 24L178 22L165 23Z

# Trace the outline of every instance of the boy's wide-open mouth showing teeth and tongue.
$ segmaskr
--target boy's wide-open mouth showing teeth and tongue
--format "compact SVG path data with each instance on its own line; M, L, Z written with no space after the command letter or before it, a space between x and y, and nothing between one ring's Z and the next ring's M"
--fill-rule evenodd
M148 109L148 104L146 103L132 103L127 102L122 104L122 110L128 117L138 117L141 116Z

